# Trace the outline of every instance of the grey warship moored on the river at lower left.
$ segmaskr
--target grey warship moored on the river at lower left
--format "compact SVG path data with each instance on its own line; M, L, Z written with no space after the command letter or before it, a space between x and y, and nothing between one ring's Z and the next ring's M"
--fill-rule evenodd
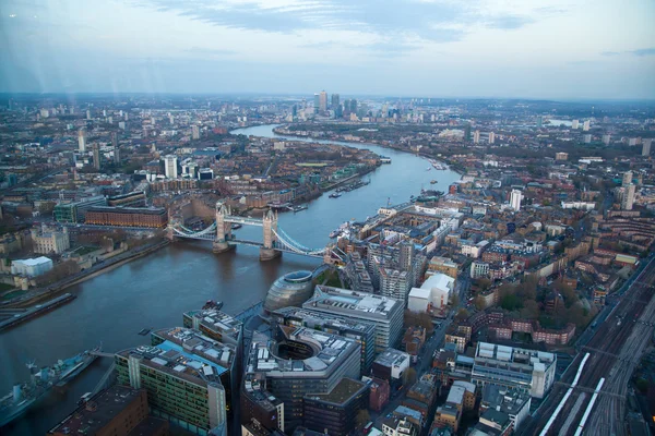
M28 363L29 382L15 384L11 392L0 398L0 427L23 415L43 400L53 386L63 386L78 376L97 359L92 351L99 350L100 347L96 347L40 370L33 362Z

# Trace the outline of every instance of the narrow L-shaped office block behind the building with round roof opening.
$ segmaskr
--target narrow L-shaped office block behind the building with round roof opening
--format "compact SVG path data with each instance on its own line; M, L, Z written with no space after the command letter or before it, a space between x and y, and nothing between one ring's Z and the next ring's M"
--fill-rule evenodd
M361 347L361 374L368 374L376 354L376 325L309 308L283 307L271 313L271 326L309 327L356 340Z

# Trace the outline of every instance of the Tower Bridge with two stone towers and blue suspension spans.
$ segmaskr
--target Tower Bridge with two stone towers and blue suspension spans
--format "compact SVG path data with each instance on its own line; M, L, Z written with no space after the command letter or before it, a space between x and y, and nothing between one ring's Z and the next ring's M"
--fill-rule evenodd
M239 239L233 234L233 225L254 226L262 228L261 241ZM180 220L171 219L168 225L168 237L212 241L214 253L234 250L236 245L257 246L260 249L260 261L270 261L282 253L293 253L302 256L321 258L326 263L343 262L343 253L331 246L309 249L277 226L277 214L269 210L261 219L233 216L229 206L216 203L215 221L199 231L188 229Z

